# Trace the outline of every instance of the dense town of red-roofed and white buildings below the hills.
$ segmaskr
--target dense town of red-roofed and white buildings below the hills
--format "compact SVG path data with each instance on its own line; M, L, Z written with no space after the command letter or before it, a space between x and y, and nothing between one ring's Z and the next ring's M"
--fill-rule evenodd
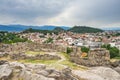
M72 32L61 32L59 34L23 33L21 34L21 37L26 37L33 42L41 44L49 38L52 38L53 41L50 43L62 46L85 46L93 49L100 48L103 44L110 44L112 47L117 47L120 49L120 36L113 36L113 34L116 33L117 32L110 31L85 34L77 34Z

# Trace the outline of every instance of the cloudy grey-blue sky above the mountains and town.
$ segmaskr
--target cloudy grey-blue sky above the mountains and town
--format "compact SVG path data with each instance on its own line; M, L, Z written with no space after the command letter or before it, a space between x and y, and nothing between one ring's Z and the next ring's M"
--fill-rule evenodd
M0 0L0 24L120 27L120 0Z

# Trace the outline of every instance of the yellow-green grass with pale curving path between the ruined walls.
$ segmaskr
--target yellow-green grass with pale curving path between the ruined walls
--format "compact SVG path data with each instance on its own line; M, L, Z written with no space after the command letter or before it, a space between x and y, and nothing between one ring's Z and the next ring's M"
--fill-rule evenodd
M36 55L36 54L45 54L45 52L28 51L28 52L26 52L26 54ZM41 64L47 65L49 68L55 68L57 70L62 70L65 67L70 67L71 69L74 69L74 70L86 70L87 69L87 67L77 65L77 64L69 61L70 60L69 54L66 54L66 53L57 53L57 54L58 54L58 56L62 57L61 60L31 60L31 59L26 59L26 60L19 60L19 62L33 63L33 64L41 63Z

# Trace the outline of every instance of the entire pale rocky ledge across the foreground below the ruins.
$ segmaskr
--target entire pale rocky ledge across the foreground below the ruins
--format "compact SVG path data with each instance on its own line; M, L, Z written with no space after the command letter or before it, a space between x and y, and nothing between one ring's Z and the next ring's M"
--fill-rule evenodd
M0 80L120 80L120 65L112 68L101 66L88 70L65 68L57 71L43 64L23 64L1 60Z

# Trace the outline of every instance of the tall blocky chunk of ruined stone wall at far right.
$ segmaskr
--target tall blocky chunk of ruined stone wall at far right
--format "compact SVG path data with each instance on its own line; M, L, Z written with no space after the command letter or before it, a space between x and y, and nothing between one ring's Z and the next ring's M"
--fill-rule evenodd
M91 50L88 54L88 60L95 65L106 65L109 64L110 54L106 49L95 49Z

